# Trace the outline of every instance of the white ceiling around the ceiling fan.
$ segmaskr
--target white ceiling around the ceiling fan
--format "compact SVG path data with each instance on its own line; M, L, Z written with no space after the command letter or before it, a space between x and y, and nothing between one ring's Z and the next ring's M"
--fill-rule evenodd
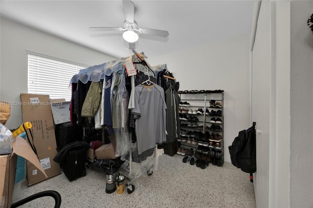
M134 0L138 27L168 30L168 38L139 35L136 50L148 56L173 53L250 32L251 0ZM114 57L128 56L121 32L89 27L122 27L121 0L1 0L1 17Z

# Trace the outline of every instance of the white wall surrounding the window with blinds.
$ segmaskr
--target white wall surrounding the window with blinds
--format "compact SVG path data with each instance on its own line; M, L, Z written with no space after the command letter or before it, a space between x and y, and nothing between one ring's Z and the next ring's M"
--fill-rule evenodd
M3 18L0 19L0 28L0 101L20 102L20 93L27 93L25 50L87 65L115 59ZM11 116L6 126L16 128L21 124L21 106L11 106Z

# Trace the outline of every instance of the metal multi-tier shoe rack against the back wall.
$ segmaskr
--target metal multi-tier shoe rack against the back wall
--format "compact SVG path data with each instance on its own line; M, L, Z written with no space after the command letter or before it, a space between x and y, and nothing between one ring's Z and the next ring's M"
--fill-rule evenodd
M200 99L200 98L202 98L202 96L203 96L203 99ZM223 141L222 141L222 167L223 167L223 165L224 165L224 92L221 92L221 93L201 93L201 94L186 93L186 94L179 94L179 97L180 97L181 102L187 102L187 103L203 102L203 105L201 105L201 104L199 104L199 105L190 104L190 106L186 106L186 107L185 106L179 106L180 108L185 108L188 110L189 109L196 109L197 110L198 108L202 108L204 111L203 115L195 115L195 114L193 114L193 115L182 114L182 115L186 115L187 117L188 116L196 116L197 118L203 117L203 121L197 122L198 124L203 124L203 129L181 126L182 123L184 124L184 123L189 122L189 121L182 121L182 120L180 120L180 128L185 129L186 132L188 132L188 131L202 131L202 133L204 134L206 131L208 131L210 134L212 134L212 133L222 134L222 137L223 137ZM215 99L215 98L218 98L218 99ZM222 107L221 108L209 108L209 106L210 106L209 101L210 100L215 100L216 102L221 102ZM209 109L209 112L211 112L211 110L214 110L214 111L221 110L222 116L210 116L210 115L207 116L207 115L205 115L206 108ZM211 118L221 118L222 124L210 123ZM220 125L222 127L222 131L211 131L210 129L205 128L205 125L207 125L209 127L211 125ZM199 142L199 140L200 139L197 139L198 142ZM207 142L209 142L209 141L207 141ZM178 146L187 147L187 148L191 147L194 149L194 151L197 150L197 148L199 146L198 144L196 144L196 145L188 144L187 141L186 142L182 142L182 141L178 142Z

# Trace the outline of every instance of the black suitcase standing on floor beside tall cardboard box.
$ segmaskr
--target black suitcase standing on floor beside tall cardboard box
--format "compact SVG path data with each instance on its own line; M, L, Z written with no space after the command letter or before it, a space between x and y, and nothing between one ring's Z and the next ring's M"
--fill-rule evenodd
M69 181L86 176L86 149L79 148L68 152L62 168Z

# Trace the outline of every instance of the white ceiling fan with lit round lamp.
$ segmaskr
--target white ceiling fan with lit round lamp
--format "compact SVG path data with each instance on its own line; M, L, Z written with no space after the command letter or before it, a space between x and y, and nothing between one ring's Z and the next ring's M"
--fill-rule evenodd
M121 27L89 27L91 31L124 31L123 38L129 42L129 49L134 49L135 42L138 41L138 34L147 34L154 36L167 37L169 35L166 30L156 30L149 28L137 28L137 24L134 21L134 3L130 0L122 0L125 14L124 28Z

